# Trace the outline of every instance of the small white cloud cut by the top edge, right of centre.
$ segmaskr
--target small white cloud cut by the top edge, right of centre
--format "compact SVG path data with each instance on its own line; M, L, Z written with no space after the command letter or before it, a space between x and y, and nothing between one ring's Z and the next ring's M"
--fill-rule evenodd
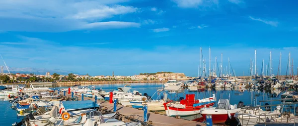
M198 6L210 7L212 5L217 5L218 0L172 0L179 7L182 8L197 8Z

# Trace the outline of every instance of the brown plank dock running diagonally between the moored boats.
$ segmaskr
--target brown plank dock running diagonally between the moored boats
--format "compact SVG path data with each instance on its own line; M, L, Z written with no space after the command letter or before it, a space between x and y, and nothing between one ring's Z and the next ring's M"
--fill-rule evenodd
M60 94L63 95L63 92L60 92ZM80 95L75 95L78 97L78 100L81 100ZM66 94L66 97L71 97L71 94ZM84 100L92 100L94 101L94 98L90 97L84 97ZM97 103L100 103L101 107L105 107L108 110L113 111L114 110L114 104L110 104L107 101L103 100L97 100ZM130 115L139 115L144 117L144 111L135 109L132 107L126 107L121 104L117 104L117 111L119 114L124 116L130 116ZM135 117L138 118L138 117ZM142 121L144 119L142 118ZM195 121L189 121L185 119L177 119L174 117L168 117L166 115L161 114L155 114L153 112L148 111L148 122L152 122L152 126L206 126L204 123L195 122Z

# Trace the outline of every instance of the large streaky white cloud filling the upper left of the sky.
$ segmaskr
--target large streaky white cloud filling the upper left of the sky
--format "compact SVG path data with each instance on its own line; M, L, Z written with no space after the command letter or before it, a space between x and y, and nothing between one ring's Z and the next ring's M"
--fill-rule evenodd
M117 3L129 0L0 0L0 31L66 32L86 28L140 27L139 23L110 19L139 12ZM100 22L105 19L105 22ZM126 25L126 26L124 26Z

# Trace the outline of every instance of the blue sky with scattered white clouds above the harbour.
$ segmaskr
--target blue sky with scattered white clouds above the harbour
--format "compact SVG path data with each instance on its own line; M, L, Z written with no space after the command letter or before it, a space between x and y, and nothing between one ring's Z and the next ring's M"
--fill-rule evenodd
M223 66L229 57L240 76L243 71L248 74L257 49L258 69L262 59L268 64L272 51L276 75L282 52L286 74L288 53L294 65L298 53L297 4L297 0L1 0L0 53L9 67L16 68L197 76L202 46L206 60L211 47L211 66L223 53Z

